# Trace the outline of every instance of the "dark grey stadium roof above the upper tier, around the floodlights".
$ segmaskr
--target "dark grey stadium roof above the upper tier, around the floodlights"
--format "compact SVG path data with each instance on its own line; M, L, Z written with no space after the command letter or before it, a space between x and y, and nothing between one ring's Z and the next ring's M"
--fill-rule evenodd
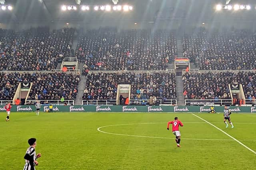
M214 14L213 7L218 4L225 4L226 0L119 0L119 4L129 4L134 6L132 12L95 12L90 10L87 12L76 10L66 11L60 10L64 4L76 4L77 0L5 0L5 4L12 4L14 9L10 11L0 10L0 22L43 22L43 21L76 21L82 22L85 20L132 20L132 21L152 21L156 16L156 12L163 8L169 8L176 13L176 16L181 16L186 13L186 16L192 17L191 20L198 18L210 20ZM230 0L230 4L236 2L244 4L253 4L254 0ZM110 4L112 0L81 0L81 5L101 5ZM255 17L256 10L252 10L250 14ZM240 12L241 13L241 12ZM248 13L248 12L247 12ZM233 15L233 14L232 14ZM239 14L243 15L243 14ZM248 16L246 16L248 19Z

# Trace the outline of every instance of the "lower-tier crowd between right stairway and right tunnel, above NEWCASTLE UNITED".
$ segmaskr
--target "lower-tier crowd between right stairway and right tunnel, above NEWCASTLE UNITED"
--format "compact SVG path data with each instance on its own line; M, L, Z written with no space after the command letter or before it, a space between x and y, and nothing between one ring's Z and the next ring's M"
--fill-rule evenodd
M223 99L223 102L231 101L228 84L238 84L238 78L230 72L186 72L182 80L185 100L211 99L215 104L220 104L220 99Z

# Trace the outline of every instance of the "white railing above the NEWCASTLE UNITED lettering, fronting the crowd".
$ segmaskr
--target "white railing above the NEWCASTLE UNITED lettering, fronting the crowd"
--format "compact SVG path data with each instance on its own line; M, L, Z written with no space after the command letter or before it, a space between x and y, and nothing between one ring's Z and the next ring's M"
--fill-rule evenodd
M186 105L232 105L232 99L186 99L185 106Z

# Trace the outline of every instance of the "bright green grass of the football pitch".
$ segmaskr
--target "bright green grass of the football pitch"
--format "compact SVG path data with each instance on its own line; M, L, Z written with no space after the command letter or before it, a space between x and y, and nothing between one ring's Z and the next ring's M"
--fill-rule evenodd
M256 115L232 114L235 128L225 128L222 114L197 114L244 145L256 150ZM178 116L184 123L181 148L166 130L167 121ZM255 169L256 154L192 114L181 113L0 113L0 169L24 166L27 140L37 138L42 153L37 170L85 169ZM194 123L189 123L194 122ZM198 122L198 123L195 123ZM157 123L120 125L131 123ZM252 123L252 124L240 124ZM126 135L112 135L97 131ZM184 139L186 138L186 139ZM254 141L242 141L244 139Z

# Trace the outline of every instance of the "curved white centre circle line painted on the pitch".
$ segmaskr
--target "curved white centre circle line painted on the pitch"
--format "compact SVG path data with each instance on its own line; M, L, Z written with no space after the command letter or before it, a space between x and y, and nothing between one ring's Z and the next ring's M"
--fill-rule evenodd
M205 122L190 122L190 123L205 123ZM121 135L121 136L131 136L131 137L146 137L146 138L157 138L157 139L174 139L170 137L151 137L151 136L140 136L140 135L126 135L126 134L119 134L119 133L110 133L110 132L105 132L100 130L103 127L112 127L112 126L122 126L122 125L144 125L144 124L160 124L160 123L129 123L129 124L119 124L119 125L107 125L107 126L102 126L98 127L97 131L106 133L106 134L111 134L111 135ZM234 139L194 139L194 138L182 138L185 140L197 140L197 141L234 141ZM256 141L254 139L244 139L243 141Z

